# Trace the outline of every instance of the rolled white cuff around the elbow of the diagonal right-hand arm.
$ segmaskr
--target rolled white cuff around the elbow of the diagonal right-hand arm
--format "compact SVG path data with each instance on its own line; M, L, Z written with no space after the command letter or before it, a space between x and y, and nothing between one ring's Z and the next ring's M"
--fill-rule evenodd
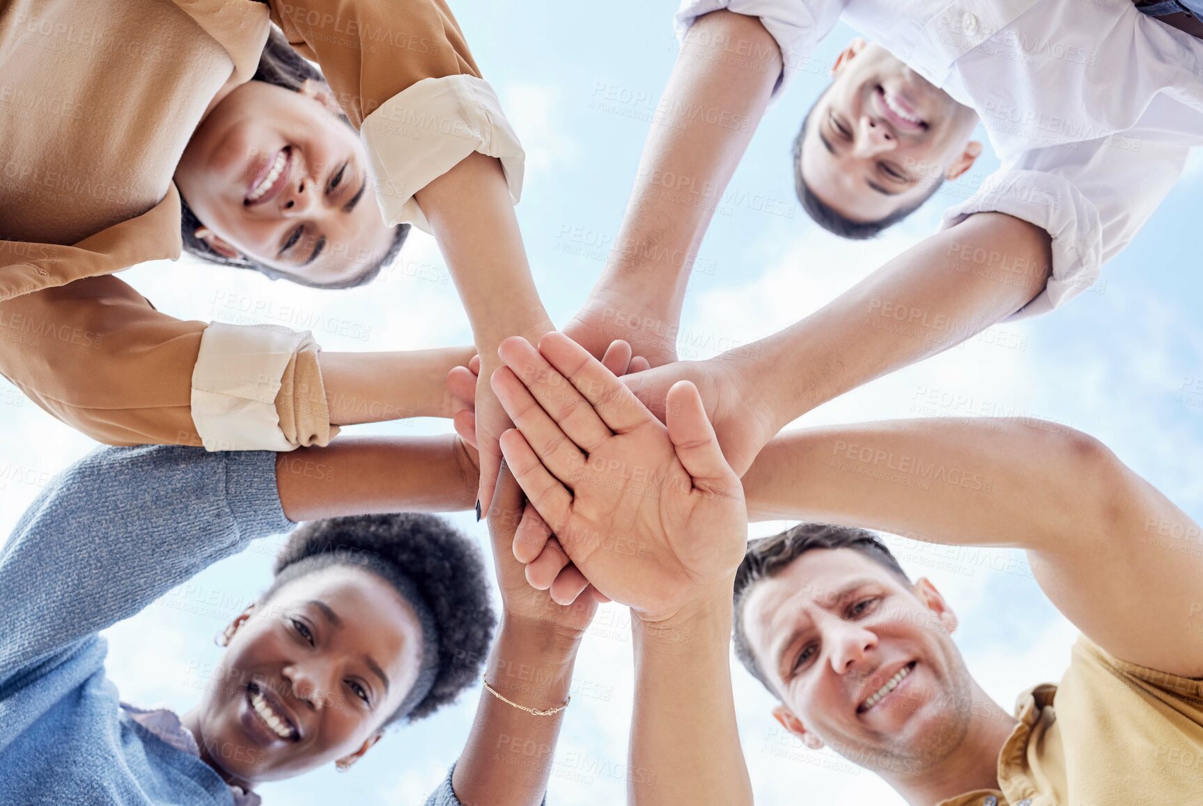
M1066 179L1042 171L997 171L973 196L944 211L940 229L956 226L974 213L1006 213L1042 227L1053 238L1053 273L1048 285L1007 321L1047 314L1098 279L1103 263L1100 214Z

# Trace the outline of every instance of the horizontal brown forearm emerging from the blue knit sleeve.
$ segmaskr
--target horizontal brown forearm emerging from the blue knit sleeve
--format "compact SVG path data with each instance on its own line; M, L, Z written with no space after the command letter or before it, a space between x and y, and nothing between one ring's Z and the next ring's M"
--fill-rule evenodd
M275 458L275 484L291 521L343 515L472 509L470 449L446 437L344 437Z

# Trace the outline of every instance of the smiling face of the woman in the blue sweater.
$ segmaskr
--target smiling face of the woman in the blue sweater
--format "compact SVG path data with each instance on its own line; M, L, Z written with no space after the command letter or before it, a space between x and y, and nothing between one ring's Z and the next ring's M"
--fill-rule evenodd
M231 782L288 778L379 739L417 680L422 632L383 577L332 565L280 586L233 623L195 719Z

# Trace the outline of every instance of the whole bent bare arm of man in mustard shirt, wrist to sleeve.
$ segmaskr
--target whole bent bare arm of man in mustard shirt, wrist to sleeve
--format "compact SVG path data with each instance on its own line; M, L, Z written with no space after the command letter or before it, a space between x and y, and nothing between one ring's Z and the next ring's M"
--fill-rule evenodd
M743 478L753 517L1027 550L1041 587L1112 654L1203 676L1203 531L1096 439L1037 420L795 431ZM1193 610L1192 610L1193 608Z

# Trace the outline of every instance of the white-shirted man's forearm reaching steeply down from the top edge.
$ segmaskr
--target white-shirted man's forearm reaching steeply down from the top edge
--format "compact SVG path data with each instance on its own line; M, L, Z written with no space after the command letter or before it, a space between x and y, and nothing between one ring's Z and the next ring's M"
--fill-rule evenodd
M736 52L752 55L731 64L727 55ZM780 75L781 52L755 17L717 11L694 23L592 296L621 289L677 321L703 236ZM682 195L698 203L682 203Z

